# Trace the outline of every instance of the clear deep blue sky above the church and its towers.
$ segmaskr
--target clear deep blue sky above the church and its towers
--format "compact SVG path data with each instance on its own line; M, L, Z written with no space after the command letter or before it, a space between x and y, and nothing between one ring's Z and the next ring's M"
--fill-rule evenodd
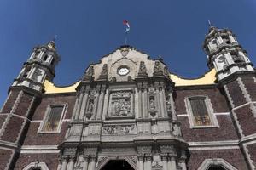
M0 107L32 48L55 35L61 62L54 83L78 81L90 62L125 43L150 55L161 56L169 70L181 77L200 77L207 68L202 42L214 26L230 28L256 64L255 0L1 0Z

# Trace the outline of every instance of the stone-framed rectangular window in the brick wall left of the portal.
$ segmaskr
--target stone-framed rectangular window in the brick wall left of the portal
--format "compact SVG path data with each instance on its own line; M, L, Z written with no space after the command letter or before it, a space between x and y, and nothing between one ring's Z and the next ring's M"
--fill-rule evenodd
M41 132L56 133L60 131L61 118L65 109L65 105L50 105L44 117Z

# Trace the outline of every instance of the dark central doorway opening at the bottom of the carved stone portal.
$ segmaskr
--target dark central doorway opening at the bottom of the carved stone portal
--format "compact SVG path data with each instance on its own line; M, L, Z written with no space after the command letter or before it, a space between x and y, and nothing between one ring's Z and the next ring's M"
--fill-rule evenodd
M134 170L125 160L111 160L101 170Z

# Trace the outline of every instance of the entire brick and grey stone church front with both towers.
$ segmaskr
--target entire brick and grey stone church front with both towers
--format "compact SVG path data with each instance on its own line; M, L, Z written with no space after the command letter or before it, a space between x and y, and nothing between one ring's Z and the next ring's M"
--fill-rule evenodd
M55 87L55 42L33 48L0 111L2 170L256 169L256 74L210 26L209 71L188 80L125 45Z

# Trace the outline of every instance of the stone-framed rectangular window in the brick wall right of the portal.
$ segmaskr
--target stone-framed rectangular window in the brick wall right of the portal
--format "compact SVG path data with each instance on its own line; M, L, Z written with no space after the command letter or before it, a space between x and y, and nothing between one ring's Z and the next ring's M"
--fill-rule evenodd
M186 99L190 127L218 127L213 115L210 99L206 96L193 96Z

